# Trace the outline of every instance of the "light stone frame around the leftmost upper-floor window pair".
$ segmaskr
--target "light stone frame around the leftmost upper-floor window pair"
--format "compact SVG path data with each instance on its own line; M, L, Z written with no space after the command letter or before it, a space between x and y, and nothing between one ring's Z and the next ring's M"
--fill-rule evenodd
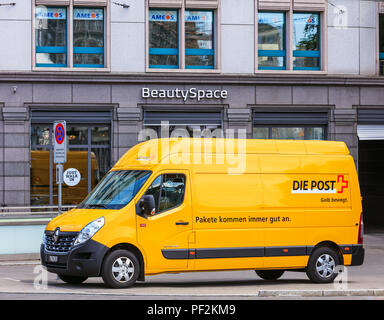
M39 6L35 4L35 0L32 0L32 71L70 71L70 72L110 72L111 71L111 9L110 9L110 1L107 2L107 5L94 5L94 6L83 6L77 5L75 6L73 1L71 0L68 5L57 5L55 1L52 0L52 4L50 1L47 1L45 4L46 7L60 7L67 9L67 65L64 66L38 66L36 64L36 36L35 36L35 28L36 28L36 7ZM90 8L90 9L103 9L103 42L104 42L104 65L103 66L95 66L90 65L89 67L84 66L76 66L74 65L74 46L73 46L73 21L74 21L74 8Z

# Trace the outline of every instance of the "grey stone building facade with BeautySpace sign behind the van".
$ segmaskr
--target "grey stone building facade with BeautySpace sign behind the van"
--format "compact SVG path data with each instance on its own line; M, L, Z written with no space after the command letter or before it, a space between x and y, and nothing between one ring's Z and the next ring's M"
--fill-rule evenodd
M3 206L57 203L55 120L82 174L64 204L165 122L171 134L345 141L366 221L384 224L384 2L2 3Z

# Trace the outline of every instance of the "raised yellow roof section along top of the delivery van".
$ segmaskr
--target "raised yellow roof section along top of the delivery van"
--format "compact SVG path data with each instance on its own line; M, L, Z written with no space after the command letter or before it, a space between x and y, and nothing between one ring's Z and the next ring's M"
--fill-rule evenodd
M181 152L192 154L349 155L346 144L341 141L167 138L152 139L135 145L120 158L114 167L155 165L170 154Z

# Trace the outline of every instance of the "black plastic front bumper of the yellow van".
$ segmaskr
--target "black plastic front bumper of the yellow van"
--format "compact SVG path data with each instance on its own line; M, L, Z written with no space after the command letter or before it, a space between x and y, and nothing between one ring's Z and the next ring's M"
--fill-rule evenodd
M92 239L84 244L71 247L68 252L52 252L46 250L46 246L41 244L40 258L41 264L53 273L97 277L101 274L103 258L108 251L108 247Z

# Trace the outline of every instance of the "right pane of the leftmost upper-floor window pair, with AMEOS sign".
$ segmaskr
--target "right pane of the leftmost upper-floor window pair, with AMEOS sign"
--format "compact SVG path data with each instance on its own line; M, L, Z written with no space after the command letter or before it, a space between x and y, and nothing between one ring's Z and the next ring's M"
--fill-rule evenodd
M74 67L104 67L104 9L74 8Z

